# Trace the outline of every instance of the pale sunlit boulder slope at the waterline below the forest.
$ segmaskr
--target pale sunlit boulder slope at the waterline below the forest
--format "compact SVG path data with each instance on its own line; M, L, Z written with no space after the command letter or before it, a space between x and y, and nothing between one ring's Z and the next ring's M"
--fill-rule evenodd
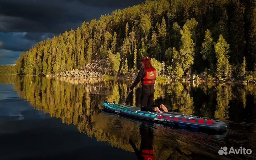
M107 69L106 60L93 60L91 64L87 64L80 69L72 69L70 71L55 74L59 77L104 77Z

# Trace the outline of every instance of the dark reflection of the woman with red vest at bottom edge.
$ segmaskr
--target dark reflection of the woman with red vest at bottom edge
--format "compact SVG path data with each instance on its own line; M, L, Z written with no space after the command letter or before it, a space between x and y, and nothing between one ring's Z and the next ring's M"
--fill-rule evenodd
M145 124L140 126L140 135L142 137L140 150L138 150L132 140L129 140L138 160L154 160L153 153L153 130Z

